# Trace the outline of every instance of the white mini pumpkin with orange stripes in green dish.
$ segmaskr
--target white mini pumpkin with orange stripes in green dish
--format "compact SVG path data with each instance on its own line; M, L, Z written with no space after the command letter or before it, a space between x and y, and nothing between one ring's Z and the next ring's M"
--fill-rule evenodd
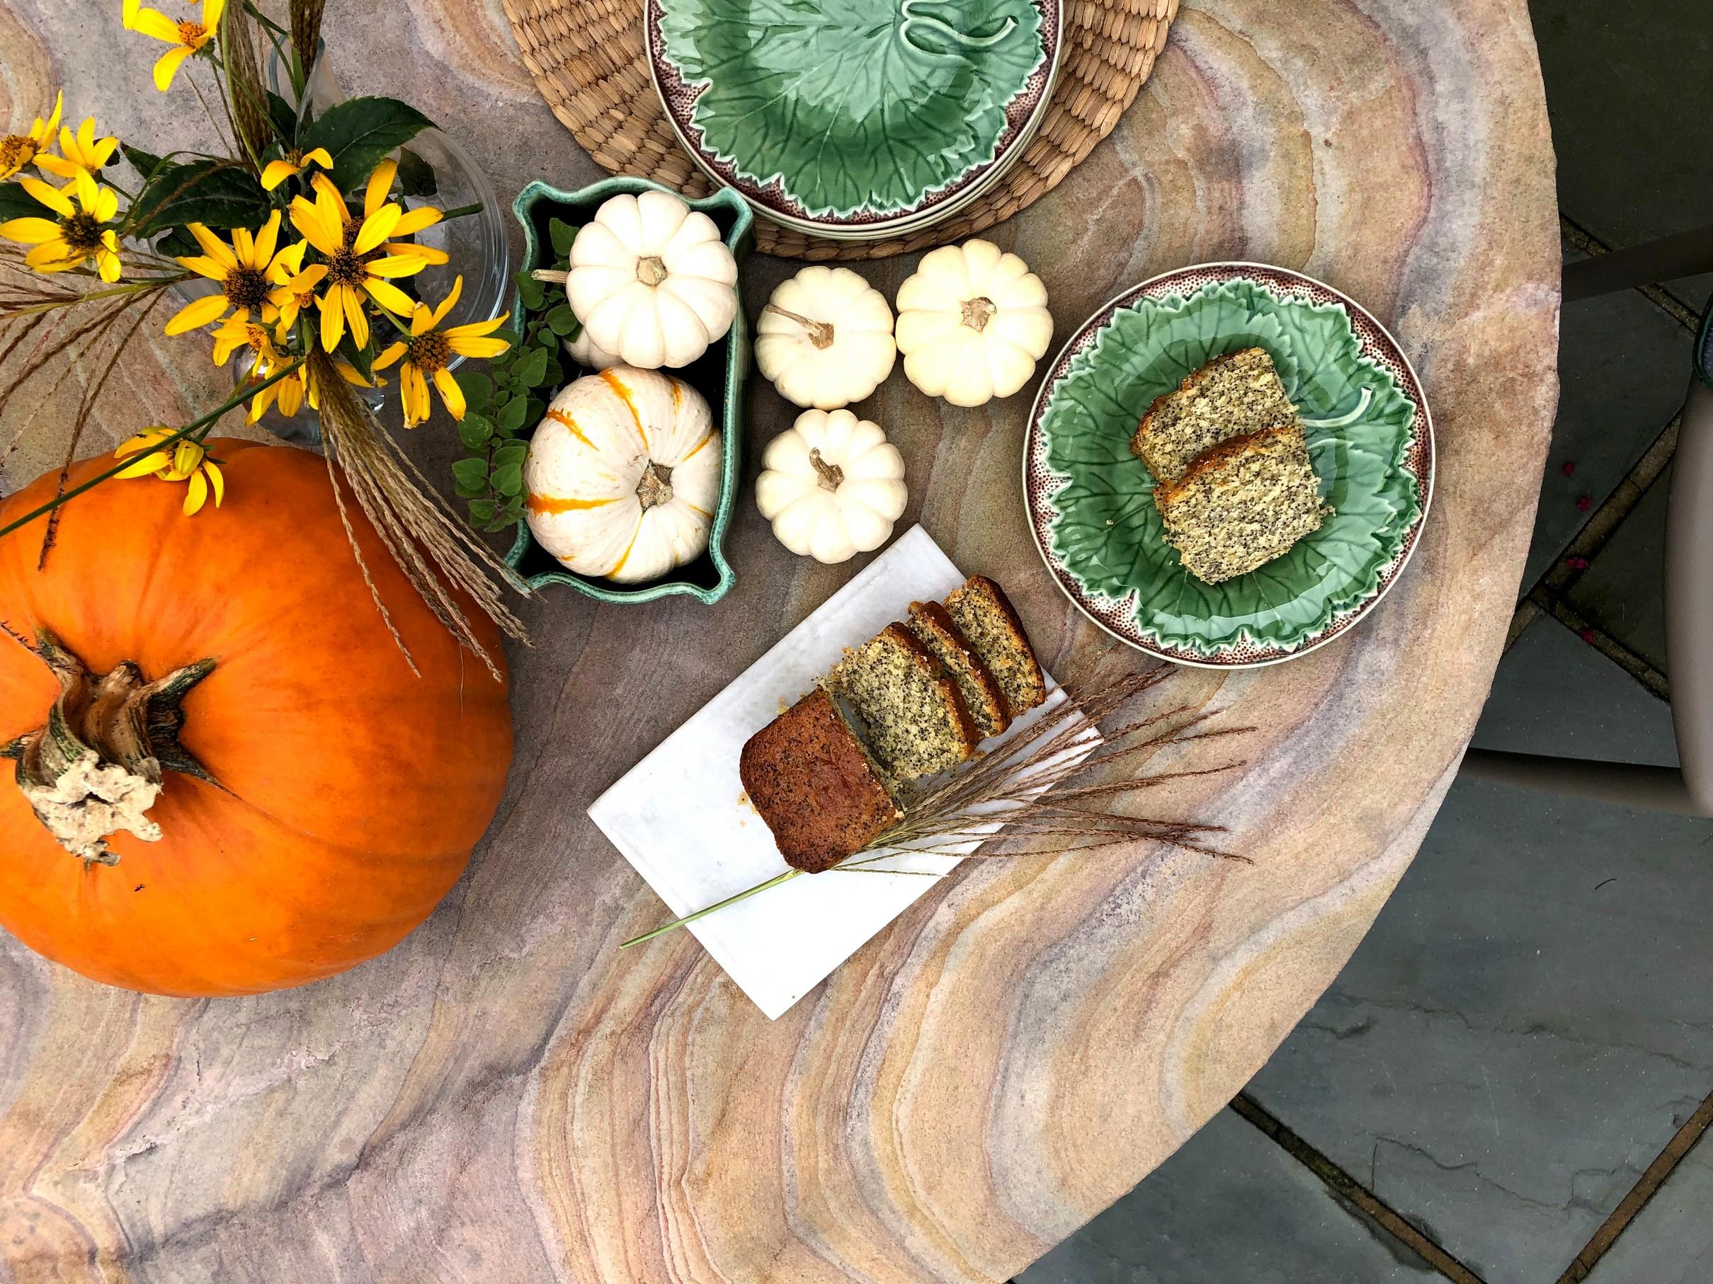
M613 366L567 385L529 438L529 532L579 575L637 584L702 555L719 433L701 392Z

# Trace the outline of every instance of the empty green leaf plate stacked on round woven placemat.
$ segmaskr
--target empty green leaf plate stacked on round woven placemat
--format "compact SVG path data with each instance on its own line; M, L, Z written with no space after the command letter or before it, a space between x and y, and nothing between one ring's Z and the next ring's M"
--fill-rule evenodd
M692 158L769 219L920 229L1023 154L1064 0L644 0L654 87Z

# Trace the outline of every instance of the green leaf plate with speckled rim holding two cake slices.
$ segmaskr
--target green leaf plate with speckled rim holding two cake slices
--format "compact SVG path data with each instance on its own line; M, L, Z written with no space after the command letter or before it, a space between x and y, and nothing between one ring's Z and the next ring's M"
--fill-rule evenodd
M1273 356L1334 512L1285 556L1203 584L1165 541L1131 437L1155 397L1245 348ZM1065 344L1035 397L1023 486L1048 570L1108 633L1179 664L1276 664L1398 580L1434 493L1434 425L1410 361L1357 303L1281 267L1203 264L1125 291Z

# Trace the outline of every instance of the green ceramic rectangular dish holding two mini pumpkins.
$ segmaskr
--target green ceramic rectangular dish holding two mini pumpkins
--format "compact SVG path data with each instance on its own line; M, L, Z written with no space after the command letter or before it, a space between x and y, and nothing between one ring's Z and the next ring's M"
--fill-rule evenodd
M512 212L524 228L524 270L552 267L553 250L548 238L548 219L564 219L572 226L582 226L594 214L596 207L608 197L620 192L666 192L660 183L646 178L606 178L579 192L562 192L557 187L534 181L517 193ZM742 269L755 240L749 205L740 195L728 188L714 192L702 200L692 200L690 209L699 209L711 217L725 236L731 255ZM521 308L519 308L521 312ZM707 349L707 353L682 370L671 373L683 378L690 387L707 397L707 404L716 407L721 431L721 478L719 507L714 510L713 531L707 539L707 551L695 562L678 567L670 575L634 587L618 586L610 580L591 579L565 570L560 562L546 553L529 534L529 522L517 522L517 541L505 562L529 584L541 591L550 584L569 584L577 592L596 597L603 603L649 603L670 594L689 594L702 603L718 603L731 589L737 575L725 555L726 527L731 526L731 512L737 507L738 473L742 471L743 450L743 380L749 375L749 322L743 317L743 282L738 279L738 312L726 337Z

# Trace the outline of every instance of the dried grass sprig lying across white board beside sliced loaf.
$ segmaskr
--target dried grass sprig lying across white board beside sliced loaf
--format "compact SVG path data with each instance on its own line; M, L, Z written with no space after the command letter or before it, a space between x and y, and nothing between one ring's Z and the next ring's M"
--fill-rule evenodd
M1098 656L1093 668L1098 669L1103 659L1105 656ZM1252 865L1247 856L1211 846L1209 839L1223 834L1223 825L1077 806L1096 801L1113 805L1132 793L1170 781L1218 776L1245 765L1237 760L1144 776L1124 774L1143 757L1254 731L1254 728L1206 729L1206 722L1221 710L1197 710L1192 705L1122 721L1120 726L1103 731L1095 743L1100 722L1122 714L1127 705L1172 675L1173 669L1161 666L1119 676L1093 690L1065 683L1060 688L1064 698L1014 731L992 753L958 769L942 784L910 801L896 825L827 873L908 873L940 878L944 875L935 870L877 866L899 856L1012 859L1062 856L1136 842L1158 842L1209 859ZM1119 772L1117 779L1103 779L1113 772ZM1000 827L997 832L995 825ZM970 844L978 846L964 851ZM663 936L790 882L800 873L803 870L786 870L706 909L632 936L618 948Z

